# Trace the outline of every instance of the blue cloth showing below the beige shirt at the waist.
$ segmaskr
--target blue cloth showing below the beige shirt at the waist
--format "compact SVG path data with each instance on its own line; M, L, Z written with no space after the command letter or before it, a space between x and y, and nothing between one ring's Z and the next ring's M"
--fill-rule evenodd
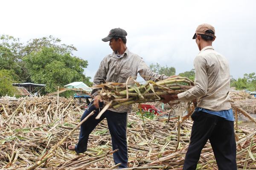
M209 113L209 114L213 114L213 115L216 115L216 116L223 117L224 119L229 120L229 121L234 121L234 116L233 116L232 109L223 110L223 111L210 111L210 110L204 109L204 108L195 108L195 111L202 111L202 112L205 112L205 113Z

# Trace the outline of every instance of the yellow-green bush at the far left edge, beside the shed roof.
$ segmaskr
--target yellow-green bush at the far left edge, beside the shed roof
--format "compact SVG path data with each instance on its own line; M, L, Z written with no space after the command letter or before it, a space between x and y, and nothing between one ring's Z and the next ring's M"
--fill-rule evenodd
M9 96L13 96L16 89L12 85L14 82L14 73L11 70L0 70L0 96L5 96L6 94Z

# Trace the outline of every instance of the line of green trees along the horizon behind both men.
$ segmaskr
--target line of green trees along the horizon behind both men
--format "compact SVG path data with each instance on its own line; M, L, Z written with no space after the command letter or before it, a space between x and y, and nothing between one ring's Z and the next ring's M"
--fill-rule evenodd
M52 36L35 38L21 43L18 38L0 35L0 96L12 96L15 88L12 83L32 82L45 84L41 94L56 91L70 82L81 81L92 85L90 77L84 74L87 60L73 55L77 51L73 45L62 44L59 38ZM172 76L176 74L174 67L151 64L152 71ZM195 79L195 70L179 74ZM236 89L256 91L255 73L244 74L243 78L231 78L231 86ZM70 93L62 94L69 96Z

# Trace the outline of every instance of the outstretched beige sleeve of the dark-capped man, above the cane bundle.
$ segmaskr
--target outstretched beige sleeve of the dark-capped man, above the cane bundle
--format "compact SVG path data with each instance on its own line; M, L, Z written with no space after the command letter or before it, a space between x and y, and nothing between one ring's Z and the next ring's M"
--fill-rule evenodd
M145 80L152 80L157 82L159 80L167 79L168 76L164 74L157 74L150 70L150 68L146 65L142 58L138 59L137 73Z

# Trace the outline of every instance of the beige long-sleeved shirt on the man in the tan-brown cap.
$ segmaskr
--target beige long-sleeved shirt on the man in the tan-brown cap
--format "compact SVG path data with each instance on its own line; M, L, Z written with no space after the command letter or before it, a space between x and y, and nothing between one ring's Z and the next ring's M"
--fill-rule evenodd
M183 102L198 98L197 107L222 111L230 105L230 68L227 59L212 46L204 47L194 60L195 87L178 94Z

